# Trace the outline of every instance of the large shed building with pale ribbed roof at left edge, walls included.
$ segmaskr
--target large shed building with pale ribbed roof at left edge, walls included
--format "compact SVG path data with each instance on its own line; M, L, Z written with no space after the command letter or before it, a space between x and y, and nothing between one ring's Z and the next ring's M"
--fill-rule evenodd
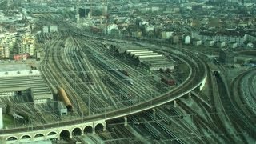
M0 97L26 97L30 102L50 102L53 94L38 70L24 65L0 65Z

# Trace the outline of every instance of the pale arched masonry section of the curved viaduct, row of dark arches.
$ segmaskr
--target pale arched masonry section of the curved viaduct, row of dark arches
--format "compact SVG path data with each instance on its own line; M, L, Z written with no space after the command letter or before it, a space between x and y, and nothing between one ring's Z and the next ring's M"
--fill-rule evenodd
M59 139L61 137L72 138L73 136L95 133L96 129L105 131L105 120L79 123L70 126L59 126L42 130L33 130L33 127L27 127L27 131L15 134L2 134L1 143L42 141L46 139Z

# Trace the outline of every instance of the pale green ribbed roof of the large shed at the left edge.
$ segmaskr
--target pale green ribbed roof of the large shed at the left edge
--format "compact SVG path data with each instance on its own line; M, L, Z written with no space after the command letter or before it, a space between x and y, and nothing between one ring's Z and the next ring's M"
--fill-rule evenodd
M5 69L0 70L0 93L30 90L34 100L53 98L49 86L38 70L27 70L29 66L24 65L17 70L14 70L14 66L11 71L6 71L10 70L9 68L10 66L6 65Z

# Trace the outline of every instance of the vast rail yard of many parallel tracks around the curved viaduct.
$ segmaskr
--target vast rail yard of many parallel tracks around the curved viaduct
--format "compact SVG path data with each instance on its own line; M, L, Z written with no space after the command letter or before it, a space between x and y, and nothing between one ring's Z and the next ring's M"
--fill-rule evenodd
M53 99L34 103L29 94L1 97L1 106L10 106L11 113L17 115L14 125L6 126L0 136L102 118L106 130L103 126L95 126L95 131L63 130L58 141L255 142L255 68L246 67L229 78L227 66L202 60L187 49L97 37L72 28L59 26L58 33L37 35L42 59L35 62L36 67ZM120 52L122 48L124 52ZM134 55L129 50L134 50ZM150 50L147 53L165 62L146 58L145 51ZM173 68L150 70L162 63ZM201 88L204 74L206 86ZM67 113L60 114L59 106ZM57 142L57 138L51 140Z

